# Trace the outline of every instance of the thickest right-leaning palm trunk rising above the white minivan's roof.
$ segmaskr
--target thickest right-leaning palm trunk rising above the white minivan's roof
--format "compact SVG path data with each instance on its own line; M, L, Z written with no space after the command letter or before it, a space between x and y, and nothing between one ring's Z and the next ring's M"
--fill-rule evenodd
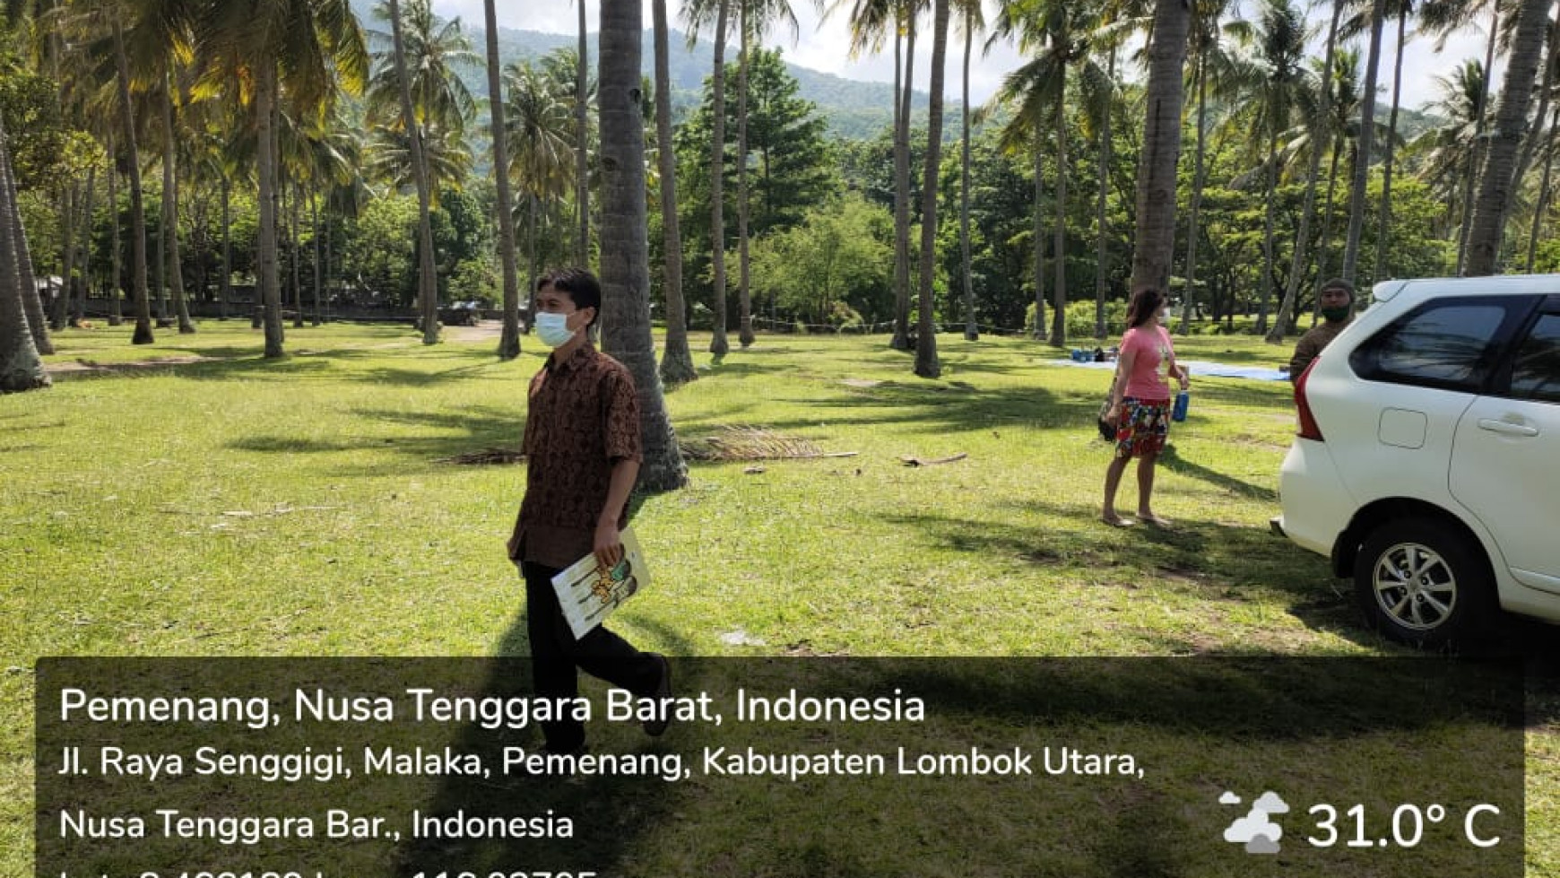
M1554 0L1523 0L1518 8L1516 36L1505 62L1505 84L1501 87L1501 103L1496 108L1494 137L1490 139L1473 228L1468 231L1470 276L1493 274L1501 256L1507 192L1519 182L1513 179L1516 148L1538 80L1538 62L1544 51L1544 30L1552 3Z

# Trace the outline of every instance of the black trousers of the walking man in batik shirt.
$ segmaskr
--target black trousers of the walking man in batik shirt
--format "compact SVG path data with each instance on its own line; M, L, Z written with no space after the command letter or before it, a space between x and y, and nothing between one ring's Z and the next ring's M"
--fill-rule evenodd
M633 649L633 644L596 625L583 638L574 639L569 621L558 607L552 577L560 568L524 561L526 630L530 635L530 674L537 694L548 699L579 696L579 674L585 671L627 689L635 696L654 696L661 683L657 657ZM541 735L548 749L557 753L585 742L585 725L577 720L543 722Z

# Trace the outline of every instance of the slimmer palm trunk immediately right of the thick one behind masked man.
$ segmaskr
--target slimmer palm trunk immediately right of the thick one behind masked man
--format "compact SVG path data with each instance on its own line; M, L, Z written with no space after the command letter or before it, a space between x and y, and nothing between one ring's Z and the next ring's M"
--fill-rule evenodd
M661 381L669 387L699 377L688 349L688 306L682 290L682 231L677 228L677 153L672 150L671 28L666 0L652 0L655 27L655 159L661 175L661 243L666 251L666 349Z

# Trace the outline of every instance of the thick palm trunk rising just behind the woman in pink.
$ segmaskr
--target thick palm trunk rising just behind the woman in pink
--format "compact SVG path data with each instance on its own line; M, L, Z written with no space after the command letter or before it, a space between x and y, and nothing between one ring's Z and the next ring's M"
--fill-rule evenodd
M1192 11L1182 0L1154 5L1154 36L1148 62L1148 119L1137 175L1137 248L1133 290L1170 287L1175 259L1176 159L1181 156L1181 100L1186 42Z

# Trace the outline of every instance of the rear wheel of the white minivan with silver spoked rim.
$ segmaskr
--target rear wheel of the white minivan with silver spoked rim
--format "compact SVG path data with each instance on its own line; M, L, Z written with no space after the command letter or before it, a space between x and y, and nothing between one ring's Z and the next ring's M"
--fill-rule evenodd
M1393 521L1365 540L1354 593L1371 627L1424 649L1473 641L1493 610L1484 551L1429 518Z

